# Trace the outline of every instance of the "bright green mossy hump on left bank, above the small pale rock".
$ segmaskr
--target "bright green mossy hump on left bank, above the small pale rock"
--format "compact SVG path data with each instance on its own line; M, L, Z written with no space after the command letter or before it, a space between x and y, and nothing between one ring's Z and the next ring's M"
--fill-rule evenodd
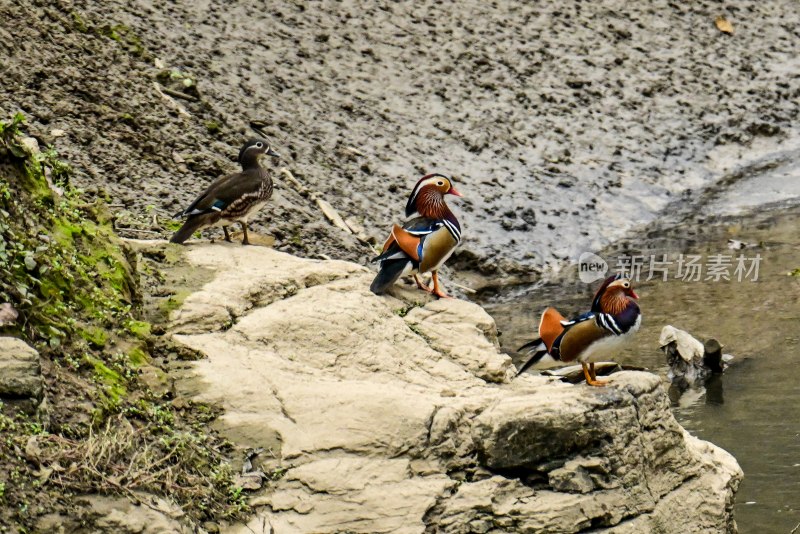
M10 150L23 146L23 121L0 122L0 300L20 311L22 333L34 343L52 347L78 333L102 348L107 326L130 318L132 269L107 209L69 185L71 168L55 150ZM63 196L50 190L43 167L58 172Z

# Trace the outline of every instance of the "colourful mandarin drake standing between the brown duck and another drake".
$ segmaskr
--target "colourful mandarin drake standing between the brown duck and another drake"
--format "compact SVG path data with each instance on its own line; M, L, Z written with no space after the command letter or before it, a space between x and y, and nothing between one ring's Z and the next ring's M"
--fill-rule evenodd
M383 245L383 252L373 261L380 262L380 271L369 286L376 295L381 295L398 278L413 274L420 289L437 297L447 295L439 284L439 267L456 249L461 241L461 226L447 207L445 195L461 196L453 187L453 180L443 174L423 176L411 191L406 204L409 219L403 227L392 227L392 233ZM429 288L420 274L430 272L433 288Z

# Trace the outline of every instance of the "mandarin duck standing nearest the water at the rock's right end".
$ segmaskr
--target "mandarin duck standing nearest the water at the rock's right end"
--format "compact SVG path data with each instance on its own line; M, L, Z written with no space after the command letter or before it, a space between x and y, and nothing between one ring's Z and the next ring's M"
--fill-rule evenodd
M567 321L555 308L547 308L539 322L539 339L519 348L530 358L517 375L550 355L554 360L581 362L589 385L606 385L597 380L594 362L614 356L639 330L642 313L634 300L638 298L631 281L615 275L597 290L591 311Z

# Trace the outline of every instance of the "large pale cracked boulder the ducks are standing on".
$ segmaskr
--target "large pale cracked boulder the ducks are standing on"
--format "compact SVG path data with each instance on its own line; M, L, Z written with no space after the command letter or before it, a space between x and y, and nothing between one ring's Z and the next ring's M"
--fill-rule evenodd
M214 278L173 312L207 358L176 384L219 402L270 482L233 533L735 532L742 473L688 435L659 378L511 381L491 317L460 300L270 249L198 245Z

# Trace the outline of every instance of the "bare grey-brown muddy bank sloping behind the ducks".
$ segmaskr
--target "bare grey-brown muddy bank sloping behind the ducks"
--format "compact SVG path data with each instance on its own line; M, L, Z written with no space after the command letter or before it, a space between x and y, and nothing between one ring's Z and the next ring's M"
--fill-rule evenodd
M526 277L713 182L715 147L791 133L795 7L5 2L0 113L25 111L79 185L109 191L126 236L166 235L257 119L280 165L378 241L421 173L455 174L458 271ZM286 180L257 222L280 250L372 254Z

